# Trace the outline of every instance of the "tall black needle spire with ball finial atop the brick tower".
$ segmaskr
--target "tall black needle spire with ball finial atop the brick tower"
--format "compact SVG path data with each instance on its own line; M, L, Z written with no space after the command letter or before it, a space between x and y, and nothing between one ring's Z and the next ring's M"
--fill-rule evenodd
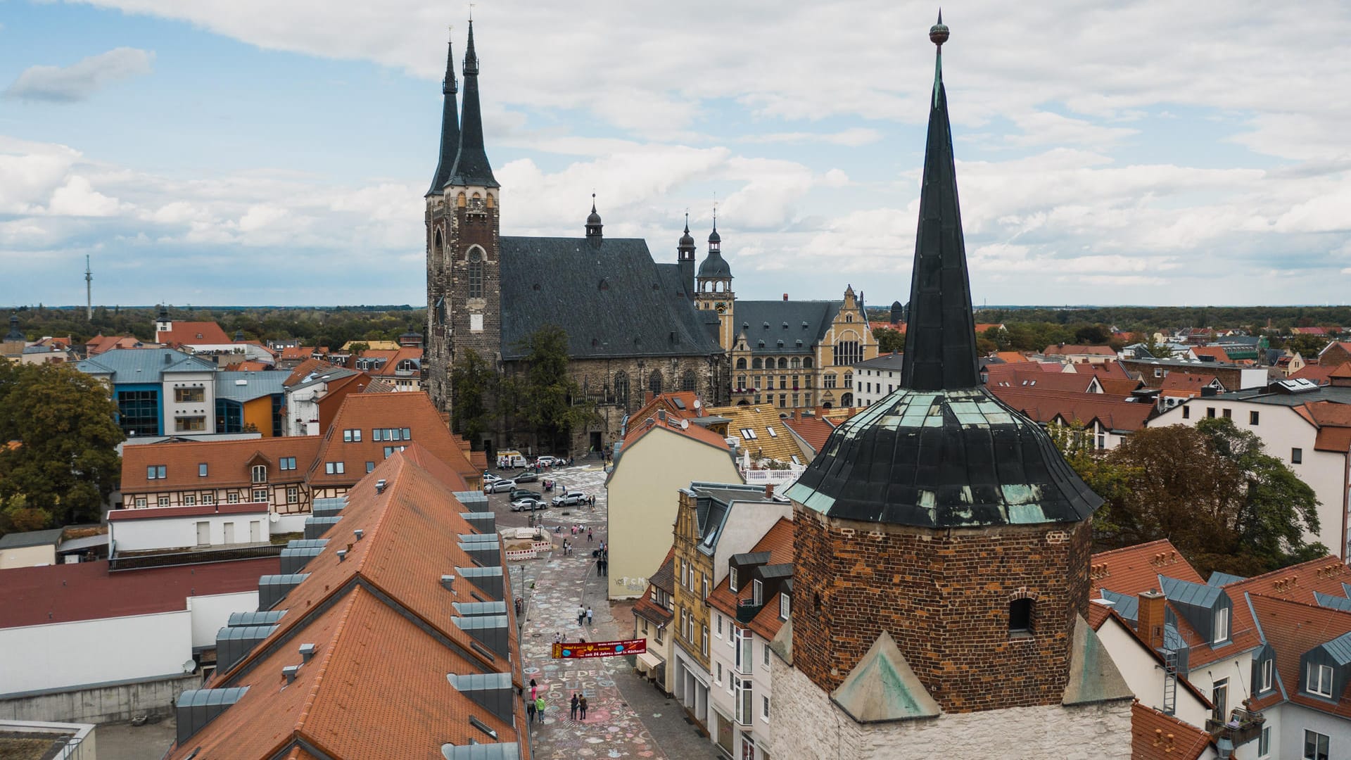
M966 243L957 199L952 127L943 88L942 55L947 38L948 30L940 14L939 23L929 28L929 39L938 46L938 62L928 145L924 149L915 268L911 272L905 362L901 368L901 387L916 391L974 388L981 383Z

